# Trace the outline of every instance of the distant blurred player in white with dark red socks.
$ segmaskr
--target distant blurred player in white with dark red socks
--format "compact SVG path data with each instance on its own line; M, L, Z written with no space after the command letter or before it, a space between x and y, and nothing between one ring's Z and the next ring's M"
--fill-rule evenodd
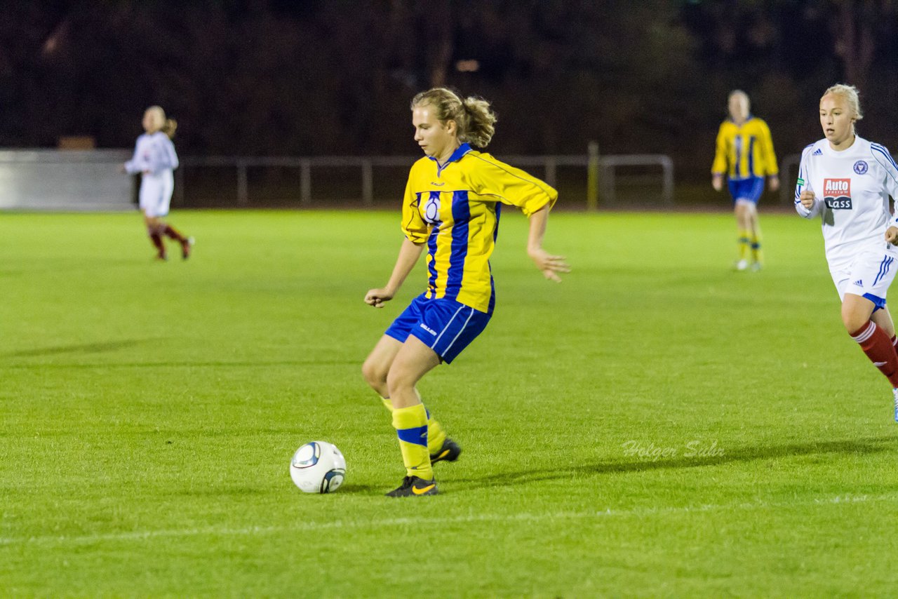
M151 106L144 112L144 130L134 147L134 157L125 163L125 172L142 173L140 181L140 209L150 241L156 248L156 260L168 260L163 235L180 243L181 257L190 257L192 237L178 233L172 225L166 225L162 217L169 211L174 190L172 172L178 168L178 154L174 151L172 137L178 127L174 119L166 119L165 111Z

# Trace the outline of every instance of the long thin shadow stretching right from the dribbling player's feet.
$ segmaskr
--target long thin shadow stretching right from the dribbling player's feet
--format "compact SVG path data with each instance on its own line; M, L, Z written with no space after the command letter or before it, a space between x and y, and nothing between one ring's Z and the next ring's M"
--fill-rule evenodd
M675 470L681 468L703 468L720 466L728 463L755 462L775 458L789 458L802 455L832 454L879 454L898 447L898 436L875 436L865 439L847 439L842 441L820 441L811 443L795 443L784 445L760 445L724 448L723 455L643 458L638 460L596 462L588 464L559 465L552 469L534 469L529 471L491 472L482 478L454 479L453 484L461 483L469 487L504 487L515 484L539 482L541 480L569 480L576 477L589 477L598 474L614 474L642 472L653 470ZM463 457L463 456L462 456Z

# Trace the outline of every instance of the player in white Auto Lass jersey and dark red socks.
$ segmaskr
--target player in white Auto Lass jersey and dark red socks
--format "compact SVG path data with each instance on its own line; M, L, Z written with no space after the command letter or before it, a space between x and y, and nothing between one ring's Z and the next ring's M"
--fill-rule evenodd
M824 138L801 154L795 208L805 218L820 216L842 323L892 383L898 421L898 354L885 305L898 257L898 220L889 212L889 196L898 198L898 165L884 146L856 135L862 116L854 86L833 85L823 93Z

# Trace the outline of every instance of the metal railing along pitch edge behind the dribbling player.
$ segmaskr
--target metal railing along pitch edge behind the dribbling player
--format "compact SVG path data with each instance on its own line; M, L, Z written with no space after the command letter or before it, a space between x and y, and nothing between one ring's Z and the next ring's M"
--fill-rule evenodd
M299 172L299 204L308 207L313 203L313 170L316 168L350 167L358 169L359 192L362 205L374 206L374 169L379 167L409 167L420 156L317 156L317 157L244 157L244 156L189 156L181 159L181 167L175 172L176 198L183 203L185 195L184 168L225 167L236 172L236 200L248 206L250 198L249 169L286 167ZM665 205L674 204L674 162L665 154L626 154L599 156L597 147L590 146L589 154L574 155L511 155L503 156L503 162L522 168L541 167L544 181L557 186L558 168L583 167L587 180L598 180L596 188L587 184L586 206L594 208L601 195L603 204L613 206L617 201L616 173L621 167L639 166L661 168L660 188ZM601 191L599 190L601 189Z

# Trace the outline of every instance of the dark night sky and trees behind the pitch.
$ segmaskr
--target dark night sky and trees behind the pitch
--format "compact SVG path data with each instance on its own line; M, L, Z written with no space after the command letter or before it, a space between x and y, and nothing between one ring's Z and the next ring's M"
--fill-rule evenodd
M780 157L822 137L830 84L898 150L898 3L231 0L4 2L0 146L131 147L146 106L183 155L417 154L409 99L493 101L489 151L674 157L706 177L742 88ZM477 60L461 72L460 60Z

